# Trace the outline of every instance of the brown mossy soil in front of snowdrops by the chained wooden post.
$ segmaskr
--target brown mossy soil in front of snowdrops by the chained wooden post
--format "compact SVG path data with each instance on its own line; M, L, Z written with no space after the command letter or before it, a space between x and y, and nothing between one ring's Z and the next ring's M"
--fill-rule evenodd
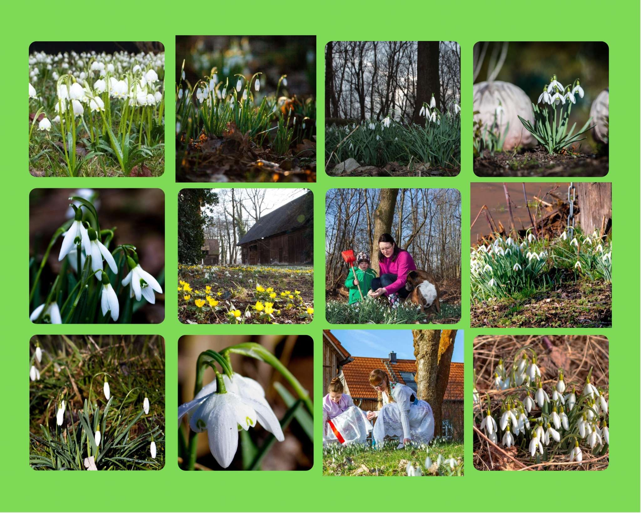
M472 328L611 328L612 283L564 282L531 298L481 301Z

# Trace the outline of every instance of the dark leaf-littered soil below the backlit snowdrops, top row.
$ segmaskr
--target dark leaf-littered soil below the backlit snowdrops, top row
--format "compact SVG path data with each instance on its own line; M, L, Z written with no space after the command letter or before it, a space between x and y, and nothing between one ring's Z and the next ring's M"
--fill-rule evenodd
M182 139L182 138L181 138ZM187 148L176 139L176 181L199 182L314 182L316 143L304 139L286 155L260 147L229 126L222 137L190 140Z

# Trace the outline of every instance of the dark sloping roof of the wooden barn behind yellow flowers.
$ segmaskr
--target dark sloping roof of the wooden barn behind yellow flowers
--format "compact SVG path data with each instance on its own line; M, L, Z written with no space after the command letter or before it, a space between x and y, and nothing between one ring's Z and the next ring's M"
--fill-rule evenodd
M252 226L245 236L238 241L240 244L247 244L253 240L264 239L277 233L297 230L313 221L313 194L311 191L292 199L289 203L279 206L267 215L263 215L258 222Z

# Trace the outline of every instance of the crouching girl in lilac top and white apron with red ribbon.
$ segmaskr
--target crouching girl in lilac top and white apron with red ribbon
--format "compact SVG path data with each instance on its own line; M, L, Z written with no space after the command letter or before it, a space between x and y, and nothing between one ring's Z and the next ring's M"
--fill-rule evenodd
M323 444L364 444L372 430L365 412L343 393L344 386L340 378L333 378L328 390L329 393L322 398Z

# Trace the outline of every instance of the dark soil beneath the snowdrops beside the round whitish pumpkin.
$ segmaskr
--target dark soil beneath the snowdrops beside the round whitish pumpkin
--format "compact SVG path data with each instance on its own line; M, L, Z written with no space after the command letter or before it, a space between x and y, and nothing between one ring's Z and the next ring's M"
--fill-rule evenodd
M522 149L513 153L489 151L474 159L476 176L605 176L608 174L608 155L574 153L549 155L544 149Z

